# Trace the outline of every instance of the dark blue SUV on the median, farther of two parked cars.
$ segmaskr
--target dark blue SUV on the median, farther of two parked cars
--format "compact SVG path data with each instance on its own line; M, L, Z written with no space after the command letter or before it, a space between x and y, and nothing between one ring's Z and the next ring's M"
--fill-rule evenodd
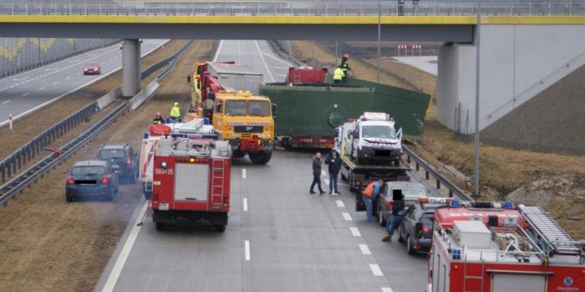
M95 154L95 160L109 162L113 170L121 177L126 177L131 183L138 177L138 155L128 144L104 145Z

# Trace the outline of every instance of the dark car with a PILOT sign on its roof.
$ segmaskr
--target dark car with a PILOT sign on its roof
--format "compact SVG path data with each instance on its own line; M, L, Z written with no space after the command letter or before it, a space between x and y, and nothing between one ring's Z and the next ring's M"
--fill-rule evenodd
M416 204L409 206L405 217L398 227L398 241L406 242L407 253L429 253L433 239L433 222L435 210L445 206L450 199L443 197L429 197L419 199Z

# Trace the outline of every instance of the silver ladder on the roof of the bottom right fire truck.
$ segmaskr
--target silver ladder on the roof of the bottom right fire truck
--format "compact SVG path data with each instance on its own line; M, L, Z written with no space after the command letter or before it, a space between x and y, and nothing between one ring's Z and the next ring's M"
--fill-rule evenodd
M530 226L530 235L548 255L582 254L582 244L575 242L541 207L520 206L519 209Z

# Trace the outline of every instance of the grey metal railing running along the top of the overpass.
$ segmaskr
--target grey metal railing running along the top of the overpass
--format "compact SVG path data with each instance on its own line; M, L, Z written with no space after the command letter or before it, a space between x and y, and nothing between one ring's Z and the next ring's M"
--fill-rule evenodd
M380 8L380 9L379 9ZM0 15L584 15L585 1L461 3L189 2L189 3L3 3Z

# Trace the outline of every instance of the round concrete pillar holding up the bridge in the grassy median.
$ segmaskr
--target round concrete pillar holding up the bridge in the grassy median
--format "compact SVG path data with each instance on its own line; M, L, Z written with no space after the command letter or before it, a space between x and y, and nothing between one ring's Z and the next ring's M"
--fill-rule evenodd
M124 39L122 45L122 96L131 97L140 91L140 41Z

